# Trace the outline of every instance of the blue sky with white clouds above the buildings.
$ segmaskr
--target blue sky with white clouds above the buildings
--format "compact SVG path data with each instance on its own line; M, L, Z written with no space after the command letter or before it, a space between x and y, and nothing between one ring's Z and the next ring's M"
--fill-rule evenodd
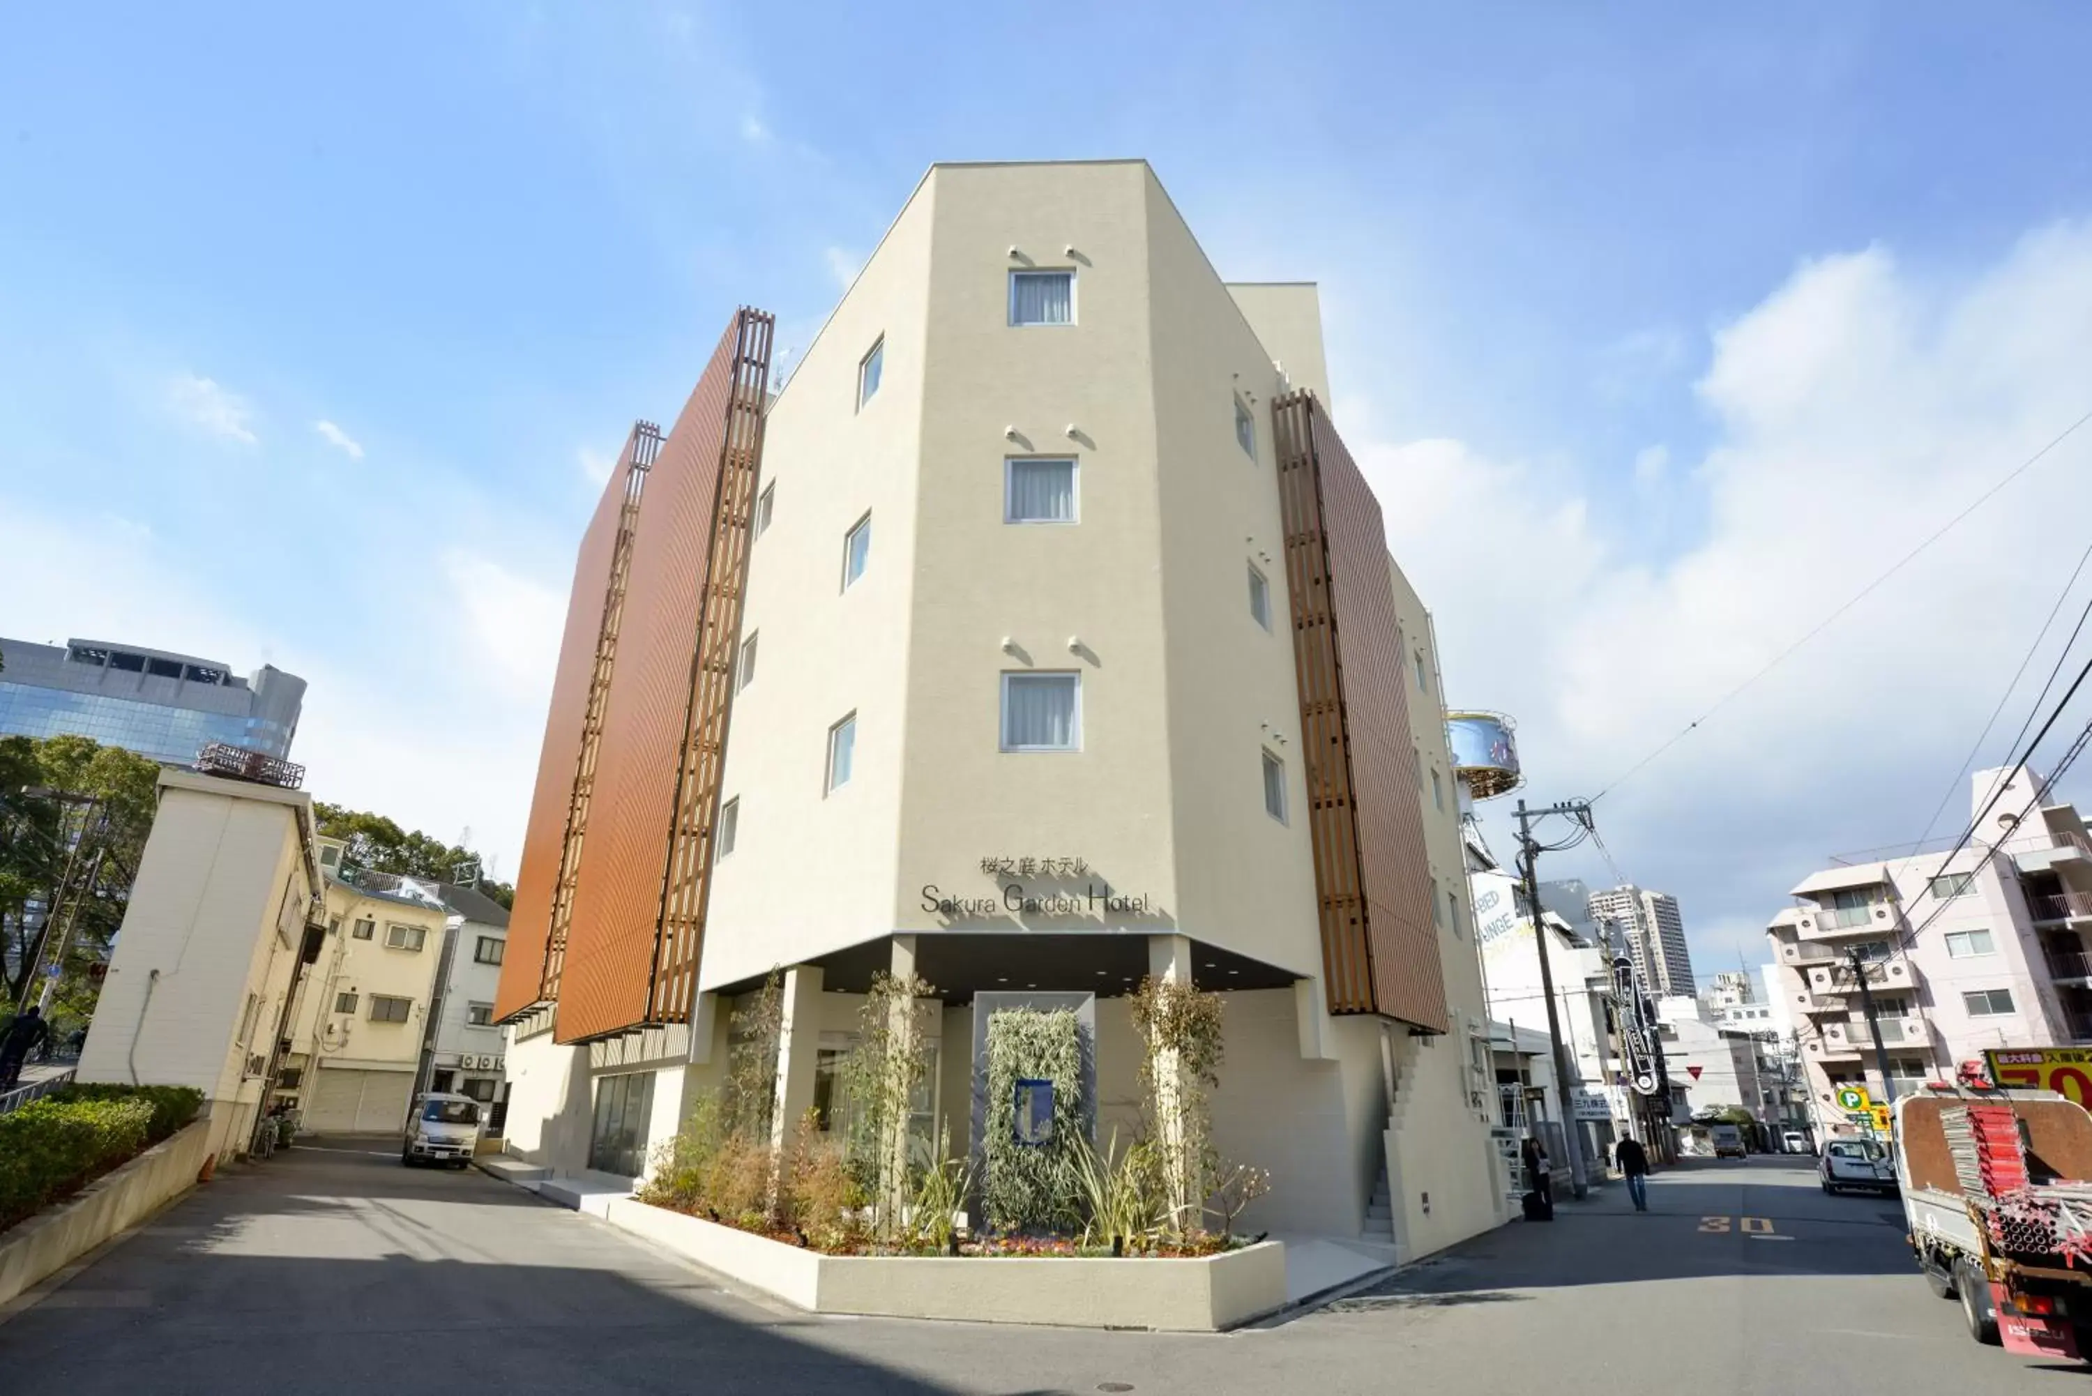
M508 873L590 463L734 303L803 345L933 159L1144 155L1224 274L1322 283L1452 691L1546 797L2092 408L2084 6L207 10L0 17L0 632L305 672L322 797ZM1609 797L1709 956L1916 837L2088 460ZM1973 576L1996 651L1887 682Z

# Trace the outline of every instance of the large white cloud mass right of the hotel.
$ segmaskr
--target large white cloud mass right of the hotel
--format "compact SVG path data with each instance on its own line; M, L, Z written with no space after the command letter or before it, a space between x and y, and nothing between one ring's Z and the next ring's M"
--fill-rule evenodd
M1435 609L1448 697L1519 718L1540 802L1617 781L2092 406L2092 228L1950 287L1881 247L1810 262L1709 347L1713 442L1674 481L1705 532L1682 553L1565 469L1460 442L1358 452ZM1749 927L1826 854L1918 835L2075 561L2082 536L2048 521L2084 517L2092 431L1600 802L1703 956L1745 933L1764 959ZM1544 875L1607 875L1584 856Z

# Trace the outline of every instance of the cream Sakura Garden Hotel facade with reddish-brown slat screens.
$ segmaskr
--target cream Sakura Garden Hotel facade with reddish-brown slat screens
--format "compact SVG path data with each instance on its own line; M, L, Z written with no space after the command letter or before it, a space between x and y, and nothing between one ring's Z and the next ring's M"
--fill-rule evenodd
M1423 601L1312 285L1226 285L1144 161L935 165L776 381L743 310L588 525L496 1017L508 1149L640 1174L778 973L782 1120L912 971L931 1139L975 1017L1224 994L1247 1226L1410 1258L1504 1220ZM1393 504L1393 502L1391 502Z

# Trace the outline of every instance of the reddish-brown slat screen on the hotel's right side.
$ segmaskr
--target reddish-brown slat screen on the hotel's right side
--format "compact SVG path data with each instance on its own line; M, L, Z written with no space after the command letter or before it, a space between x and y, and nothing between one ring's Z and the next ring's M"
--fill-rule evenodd
M1446 1032L1381 504L1314 393L1272 419L1328 1011Z

